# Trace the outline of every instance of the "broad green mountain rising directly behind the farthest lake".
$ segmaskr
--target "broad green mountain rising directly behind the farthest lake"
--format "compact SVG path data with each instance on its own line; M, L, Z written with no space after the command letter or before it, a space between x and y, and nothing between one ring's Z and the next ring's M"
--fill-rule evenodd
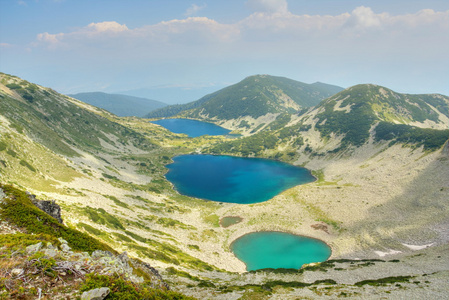
M146 117L182 115L219 120L267 113L293 113L317 105L342 89L323 83L305 84L284 77L255 75L185 105L168 106Z

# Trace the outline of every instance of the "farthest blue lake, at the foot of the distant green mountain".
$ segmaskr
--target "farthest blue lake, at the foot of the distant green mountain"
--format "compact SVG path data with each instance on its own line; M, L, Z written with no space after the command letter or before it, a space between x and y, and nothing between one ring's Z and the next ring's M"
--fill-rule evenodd
M189 137L202 135L226 135L231 131L218 125L189 119L161 119L151 123L161 125L173 133L184 133Z

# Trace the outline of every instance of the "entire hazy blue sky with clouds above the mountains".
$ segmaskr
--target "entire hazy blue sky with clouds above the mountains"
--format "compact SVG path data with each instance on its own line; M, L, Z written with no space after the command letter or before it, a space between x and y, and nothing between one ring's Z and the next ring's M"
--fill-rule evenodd
M449 95L448 70L447 0L0 0L0 72L65 94L184 103L269 74Z

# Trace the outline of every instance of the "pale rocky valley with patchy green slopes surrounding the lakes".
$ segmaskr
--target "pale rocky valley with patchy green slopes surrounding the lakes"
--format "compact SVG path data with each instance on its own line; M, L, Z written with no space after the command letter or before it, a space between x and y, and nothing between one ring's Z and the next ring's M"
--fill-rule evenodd
M235 115L248 96L226 102L227 88L185 110L154 112L176 110L173 116L242 134L190 138L0 76L0 181L56 199L66 225L149 262L174 290L213 299L444 297L447 96L359 85L304 105L293 100L291 86L270 81L266 90L282 101L249 106L266 110ZM271 78L237 87L251 87L251 79ZM237 106L223 114L220 101ZM276 159L317 180L261 203L200 200L177 193L165 178L175 156L192 153ZM221 226L229 216L241 222ZM230 245L256 231L322 240L330 261L246 272Z

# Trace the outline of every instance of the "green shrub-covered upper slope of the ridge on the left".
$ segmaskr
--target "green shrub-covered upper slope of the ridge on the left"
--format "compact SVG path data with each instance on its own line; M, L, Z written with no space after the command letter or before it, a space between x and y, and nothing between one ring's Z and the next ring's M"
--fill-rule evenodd
M105 150L104 143L140 149L153 145L142 135L82 107L81 103L18 77L0 74L0 111L10 127L52 151L68 156L76 149Z

